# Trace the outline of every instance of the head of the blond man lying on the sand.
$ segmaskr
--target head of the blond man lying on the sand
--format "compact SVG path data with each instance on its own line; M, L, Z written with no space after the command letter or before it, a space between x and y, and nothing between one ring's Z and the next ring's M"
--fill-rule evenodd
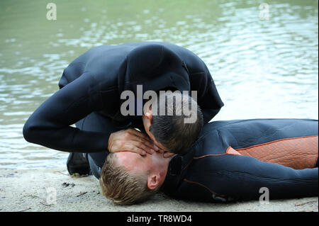
M170 158L160 152L144 156L135 152L108 154L101 171L103 196L116 204L140 203L159 191Z

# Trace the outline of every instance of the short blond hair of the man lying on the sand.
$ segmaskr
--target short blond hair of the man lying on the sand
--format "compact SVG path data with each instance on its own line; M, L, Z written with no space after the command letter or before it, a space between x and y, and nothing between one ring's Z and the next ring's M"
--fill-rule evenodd
M102 194L116 204L140 203L159 191L159 186L152 190L147 187L148 174L128 171L125 166L117 164L116 154L110 153L101 171Z

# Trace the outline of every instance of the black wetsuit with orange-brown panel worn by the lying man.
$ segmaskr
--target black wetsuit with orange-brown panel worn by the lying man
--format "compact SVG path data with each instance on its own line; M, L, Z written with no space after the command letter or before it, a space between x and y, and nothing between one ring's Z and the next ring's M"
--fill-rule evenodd
M162 191L218 202L258 199L264 188L269 199L318 196L318 120L208 123L186 154L169 162Z

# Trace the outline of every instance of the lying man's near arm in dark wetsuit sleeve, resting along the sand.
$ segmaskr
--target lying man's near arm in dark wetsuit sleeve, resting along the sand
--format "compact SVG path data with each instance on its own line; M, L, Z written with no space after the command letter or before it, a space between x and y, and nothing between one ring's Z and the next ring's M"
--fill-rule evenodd
M206 157L187 169L174 194L203 201L247 200L259 199L261 188L268 189L270 200L318 196L318 167L297 170L232 154Z

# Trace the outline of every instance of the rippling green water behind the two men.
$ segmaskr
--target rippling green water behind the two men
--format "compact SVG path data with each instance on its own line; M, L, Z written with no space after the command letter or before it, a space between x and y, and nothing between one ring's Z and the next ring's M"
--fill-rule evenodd
M46 18L49 2L56 21ZM181 45L206 62L225 103L216 120L318 118L317 0L2 0L0 168L65 164L67 153L23 140L23 123L77 56L146 40Z

